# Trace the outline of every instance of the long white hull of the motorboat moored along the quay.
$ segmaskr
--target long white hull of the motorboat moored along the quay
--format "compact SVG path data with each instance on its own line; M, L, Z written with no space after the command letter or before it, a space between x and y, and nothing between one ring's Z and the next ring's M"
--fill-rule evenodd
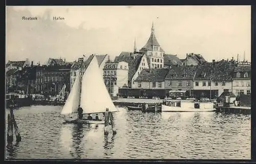
M215 111L215 108L182 108L177 106L162 105L162 112L206 112Z

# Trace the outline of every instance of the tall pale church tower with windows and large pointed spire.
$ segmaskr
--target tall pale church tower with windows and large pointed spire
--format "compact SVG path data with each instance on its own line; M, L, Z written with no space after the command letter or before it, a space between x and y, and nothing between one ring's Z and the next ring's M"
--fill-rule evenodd
M150 58L150 68L163 68L164 51L157 41L155 36L154 22L152 22L151 35L146 44L140 49L140 52L145 53Z

